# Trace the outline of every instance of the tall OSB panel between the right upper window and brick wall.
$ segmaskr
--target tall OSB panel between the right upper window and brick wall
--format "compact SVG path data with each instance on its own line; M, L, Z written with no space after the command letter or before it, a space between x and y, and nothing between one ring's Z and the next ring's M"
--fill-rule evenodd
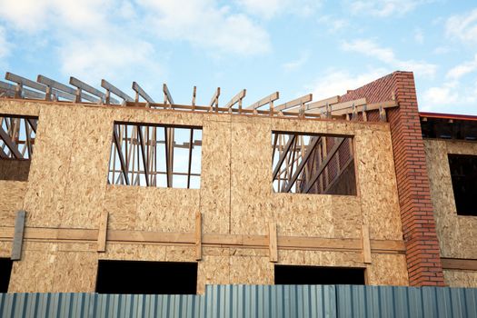
M363 223L369 225L373 239L401 240L391 135L389 132L359 130L354 139Z

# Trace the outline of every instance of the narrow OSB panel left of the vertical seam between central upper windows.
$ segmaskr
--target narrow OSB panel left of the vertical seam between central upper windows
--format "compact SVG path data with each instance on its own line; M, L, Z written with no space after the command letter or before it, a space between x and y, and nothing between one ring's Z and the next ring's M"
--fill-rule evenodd
M200 211L204 233L229 233L231 124L230 116L214 115L204 120ZM226 120L228 119L228 120Z

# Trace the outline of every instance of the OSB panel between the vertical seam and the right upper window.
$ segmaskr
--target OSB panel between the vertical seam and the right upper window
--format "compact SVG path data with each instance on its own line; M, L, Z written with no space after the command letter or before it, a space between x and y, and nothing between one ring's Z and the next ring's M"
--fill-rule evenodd
M233 234L268 233L268 223L273 219L271 138L270 119L232 118Z

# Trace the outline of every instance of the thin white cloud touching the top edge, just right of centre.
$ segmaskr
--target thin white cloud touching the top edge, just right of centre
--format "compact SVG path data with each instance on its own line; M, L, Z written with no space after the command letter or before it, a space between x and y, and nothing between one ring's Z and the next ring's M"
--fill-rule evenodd
M271 19L283 13L309 16L322 5L321 0L236 0L250 15Z

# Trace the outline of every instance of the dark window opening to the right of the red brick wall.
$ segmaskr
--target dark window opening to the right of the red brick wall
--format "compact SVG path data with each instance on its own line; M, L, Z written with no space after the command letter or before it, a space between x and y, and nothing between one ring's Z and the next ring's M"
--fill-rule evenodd
M477 216L477 155L449 154L449 166L457 214Z

